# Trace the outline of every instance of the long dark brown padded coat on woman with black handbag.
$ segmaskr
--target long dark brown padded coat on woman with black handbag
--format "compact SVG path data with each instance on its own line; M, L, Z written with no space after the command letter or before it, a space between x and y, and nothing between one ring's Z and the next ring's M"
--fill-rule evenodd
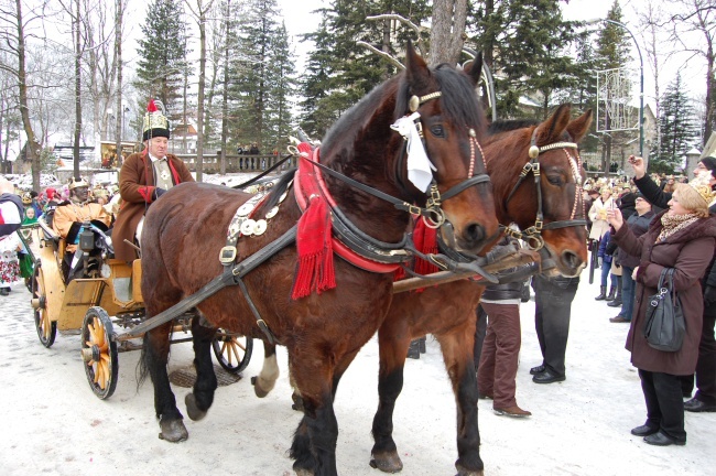
M628 224L625 224L612 237L621 249L639 257L634 312L626 348L631 351L631 363L639 369L691 375L696 369L704 311L701 286L694 284L698 282L708 266L707 257L714 255L716 216L702 218L665 240L654 242L663 228L661 217L665 213L657 215L649 230L639 238L631 232ZM679 293L686 321L684 343L675 353L650 347L643 336L649 298L657 293L659 278L664 268L675 269L674 288Z

